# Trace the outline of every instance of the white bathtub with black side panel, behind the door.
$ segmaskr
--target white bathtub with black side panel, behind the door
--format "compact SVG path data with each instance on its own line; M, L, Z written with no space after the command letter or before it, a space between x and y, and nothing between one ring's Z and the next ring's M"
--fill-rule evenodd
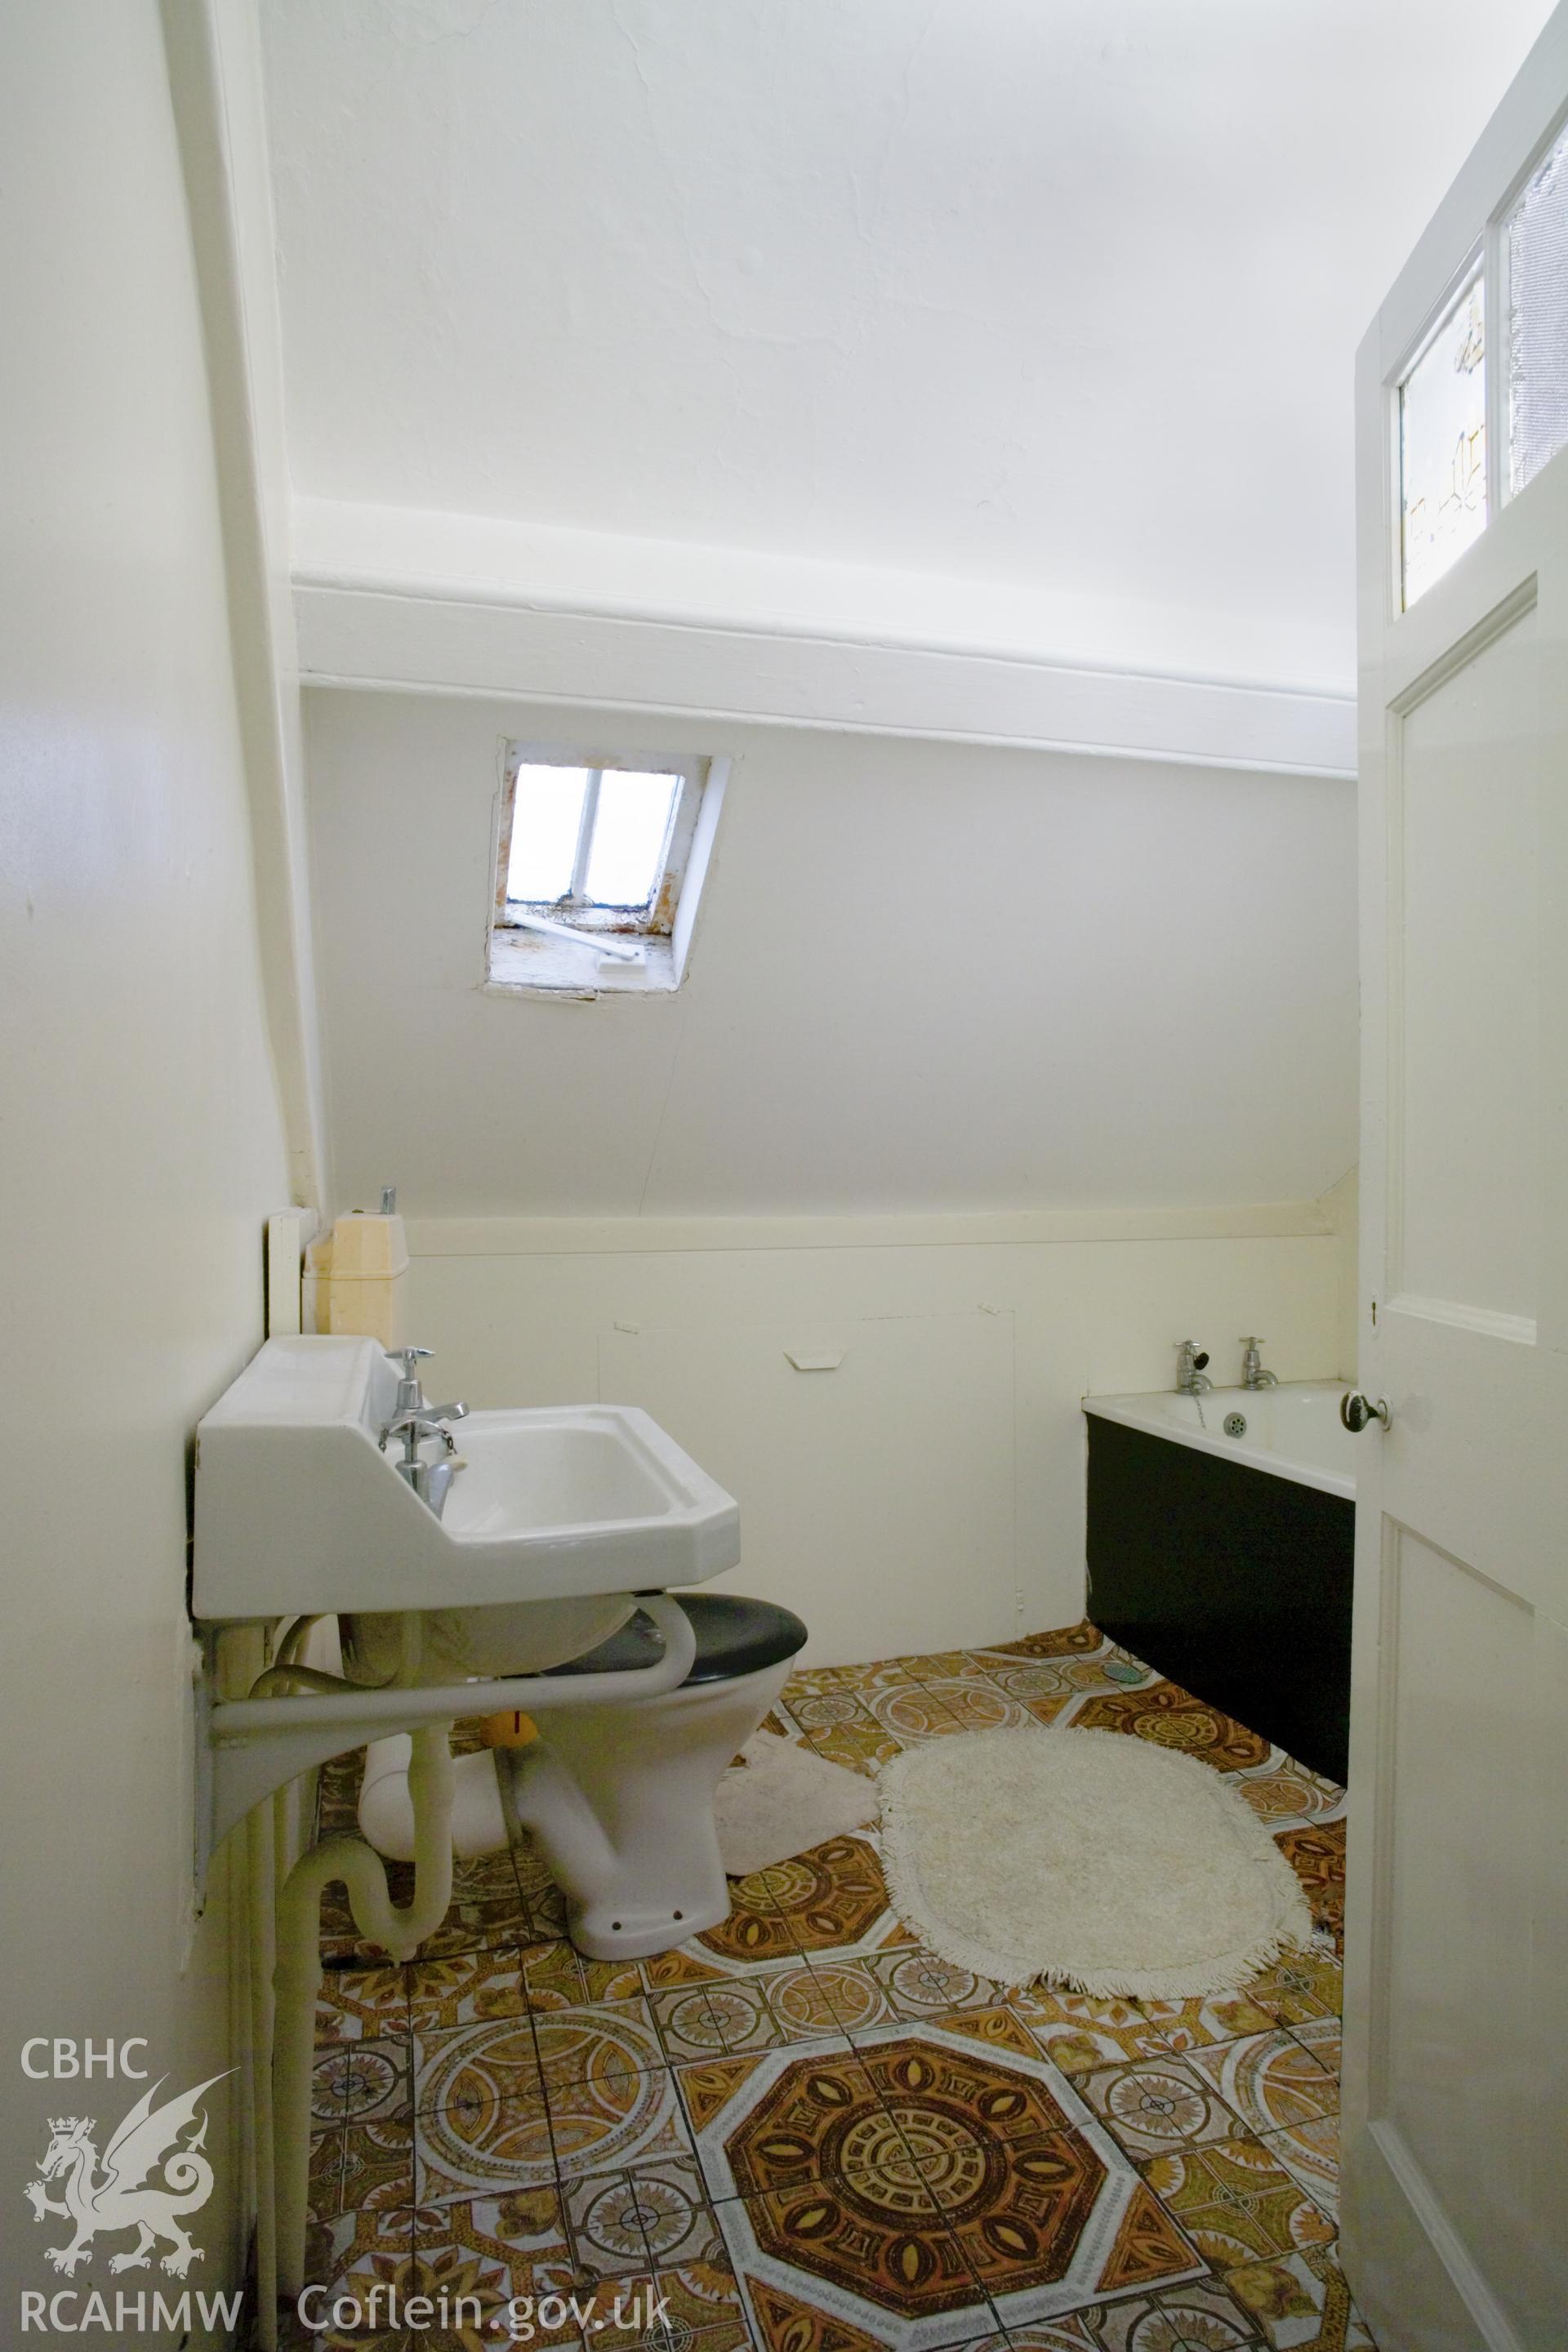
M1084 1397L1088 1613L1255 1740L1345 1780L1356 1442L1340 1381Z

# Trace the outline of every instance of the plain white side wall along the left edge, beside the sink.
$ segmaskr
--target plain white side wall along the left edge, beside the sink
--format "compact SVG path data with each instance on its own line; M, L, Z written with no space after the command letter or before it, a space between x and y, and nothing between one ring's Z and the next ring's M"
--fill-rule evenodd
M19 2286L61 2284L21 2206L45 2119L129 2105L26 2082L24 2034L146 2034L181 2084L230 2063L221 1879L190 1919L186 1472L261 1338L289 1164L160 9L31 0L0 49L9 2340Z

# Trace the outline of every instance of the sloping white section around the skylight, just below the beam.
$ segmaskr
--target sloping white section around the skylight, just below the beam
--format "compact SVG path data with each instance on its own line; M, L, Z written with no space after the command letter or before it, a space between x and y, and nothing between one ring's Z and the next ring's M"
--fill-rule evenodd
M482 993L508 734L308 696L343 1207L764 1216L1312 1200L1354 1160L1354 790L668 720L731 757L672 997ZM1175 1334L1180 1336L1180 1334Z

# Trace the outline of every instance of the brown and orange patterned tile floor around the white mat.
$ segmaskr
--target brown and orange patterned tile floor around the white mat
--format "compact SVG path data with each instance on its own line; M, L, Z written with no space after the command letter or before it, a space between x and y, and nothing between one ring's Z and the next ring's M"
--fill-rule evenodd
M477 2296L477 2345L524 2298L538 2352L1375 2352L1333 2239L1345 1792L1088 1623L809 1670L776 1715L867 1773L1030 1722L1197 1755L1326 1933L1206 2002L997 1987L903 1926L875 1830L649 1962L571 1947L531 1842L458 1863L407 1969L329 1889L308 2274ZM357 1780L324 1769L324 1825Z

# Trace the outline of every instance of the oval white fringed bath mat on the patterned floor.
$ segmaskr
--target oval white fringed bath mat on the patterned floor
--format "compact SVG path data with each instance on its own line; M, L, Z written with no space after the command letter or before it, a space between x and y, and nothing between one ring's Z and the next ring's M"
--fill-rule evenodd
M1312 1936L1246 1797L1126 1731L959 1731L889 1757L879 1788L900 1919L997 1983L1185 2002Z

